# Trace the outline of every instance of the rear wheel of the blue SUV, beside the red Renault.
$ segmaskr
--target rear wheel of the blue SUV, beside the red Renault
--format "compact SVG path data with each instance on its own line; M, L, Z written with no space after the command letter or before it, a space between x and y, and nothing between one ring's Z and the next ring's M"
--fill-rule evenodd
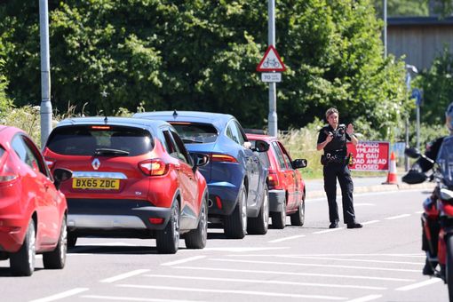
M224 232L227 238L242 239L247 232L247 194L241 187L233 213L224 221Z

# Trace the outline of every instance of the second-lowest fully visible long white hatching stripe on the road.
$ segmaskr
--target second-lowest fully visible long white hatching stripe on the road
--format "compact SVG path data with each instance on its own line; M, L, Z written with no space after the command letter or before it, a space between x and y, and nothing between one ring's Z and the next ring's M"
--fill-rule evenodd
M328 283L313 283L313 282L290 282L290 281L277 281L277 280L195 277L195 276L183 276L183 275L174 275L174 274L145 274L144 276L145 277L157 277L157 278L170 278L170 279L205 280L205 281L212 281L212 282L221 281L221 282L240 282L240 283L258 283L258 284L282 284L282 285L313 286L313 287L327 287L327 288L340 288L340 289L387 290L387 288L385 288L385 287L377 287L377 286L328 284ZM219 284L221 284L221 283L219 283Z

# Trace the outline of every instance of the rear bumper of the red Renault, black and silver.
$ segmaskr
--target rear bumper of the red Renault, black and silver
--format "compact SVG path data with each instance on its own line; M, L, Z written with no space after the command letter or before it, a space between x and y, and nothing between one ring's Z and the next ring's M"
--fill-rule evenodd
M155 207L147 201L68 199L68 230L141 229L162 230L171 208ZM150 219L162 219L152 223Z

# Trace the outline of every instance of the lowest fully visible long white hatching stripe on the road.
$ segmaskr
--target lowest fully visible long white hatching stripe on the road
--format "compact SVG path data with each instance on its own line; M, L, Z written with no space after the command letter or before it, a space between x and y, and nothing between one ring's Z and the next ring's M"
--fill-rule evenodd
M298 294L287 294L287 293L254 291L254 290L212 290L212 289L200 289L200 288L155 286L155 285L135 285L135 284L119 284L116 286L135 288L135 289L145 289L145 290L147 289L147 290L179 290L179 291L195 291L195 292L214 292L214 293L266 296L266 297L313 298L313 299L324 299L324 300L330 300L330 301L331 300L346 300L346 298L344 298L344 297L335 297L335 296L298 295Z

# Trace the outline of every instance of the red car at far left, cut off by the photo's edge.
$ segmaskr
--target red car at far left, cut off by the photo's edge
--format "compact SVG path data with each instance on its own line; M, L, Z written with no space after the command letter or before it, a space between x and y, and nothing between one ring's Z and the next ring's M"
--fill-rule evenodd
M20 129L0 125L0 259L10 258L13 275L31 275L36 253L44 268L66 262L67 203L58 187L70 171L54 178L38 147Z

